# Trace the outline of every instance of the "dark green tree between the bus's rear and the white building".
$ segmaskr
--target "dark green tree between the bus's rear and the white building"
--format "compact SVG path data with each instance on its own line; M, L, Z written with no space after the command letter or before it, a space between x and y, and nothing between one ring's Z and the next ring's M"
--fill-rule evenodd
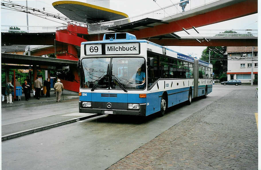
M210 50L212 49L212 50ZM225 79L227 72L227 47L207 47L202 51L200 57L201 60L209 62L209 51L210 51L210 63L213 64L213 79ZM225 74L225 75L224 75Z

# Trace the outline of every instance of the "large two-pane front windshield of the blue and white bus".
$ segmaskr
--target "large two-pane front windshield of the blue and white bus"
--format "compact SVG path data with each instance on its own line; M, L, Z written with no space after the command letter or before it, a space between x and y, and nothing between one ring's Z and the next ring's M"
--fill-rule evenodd
M145 89L145 68L145 59L138 57L82 59L81 88L124 91Z

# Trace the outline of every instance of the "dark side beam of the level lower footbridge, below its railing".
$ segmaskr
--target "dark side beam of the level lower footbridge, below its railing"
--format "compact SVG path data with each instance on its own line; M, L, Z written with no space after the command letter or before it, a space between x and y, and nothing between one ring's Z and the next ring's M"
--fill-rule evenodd
M257 37L205 37L209 42L205 41L203 37L181 37L165 38L166 36L155 36L145 38L163 46L258 46ZM167 35L169 37L169 35ZM197 38L201 41L195 40ZM2 33L1 45L54 45L55 33L30 33L30 34L13 34ZM13 41L15 40L15 42ZM66 46L66 43L55 41L56 46Z

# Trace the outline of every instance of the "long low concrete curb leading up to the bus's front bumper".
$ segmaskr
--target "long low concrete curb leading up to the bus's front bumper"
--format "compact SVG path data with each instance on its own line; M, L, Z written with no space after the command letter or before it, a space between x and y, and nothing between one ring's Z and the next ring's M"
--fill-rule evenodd
M12 134L7 134L7 135L2 136L2 141L17 138L17 137L28 135L28 134L32 134L32 133L35 133L35 132L40 132L42 130L51 129L53 127L67 125L67 124L70 124L70 123L74 123L74 122L77 122L77 121L85 120L85 119L96 117L96 116L98 116L98 115L93 114L93 115L89 115L89 116L76 117L76 118L69 119L69 120L66 120L66 121L52 123L52 124L49 124L49 125L36 127L36 128L28 129L28 130L23 130L23 131L15 132L15 133L12 133Z

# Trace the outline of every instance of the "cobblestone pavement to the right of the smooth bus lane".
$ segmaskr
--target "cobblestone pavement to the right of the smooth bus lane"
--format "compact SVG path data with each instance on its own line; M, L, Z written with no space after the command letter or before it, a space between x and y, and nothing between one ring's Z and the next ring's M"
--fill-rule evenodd
M108 170L258 169L257 104L253 89L234 90Z

